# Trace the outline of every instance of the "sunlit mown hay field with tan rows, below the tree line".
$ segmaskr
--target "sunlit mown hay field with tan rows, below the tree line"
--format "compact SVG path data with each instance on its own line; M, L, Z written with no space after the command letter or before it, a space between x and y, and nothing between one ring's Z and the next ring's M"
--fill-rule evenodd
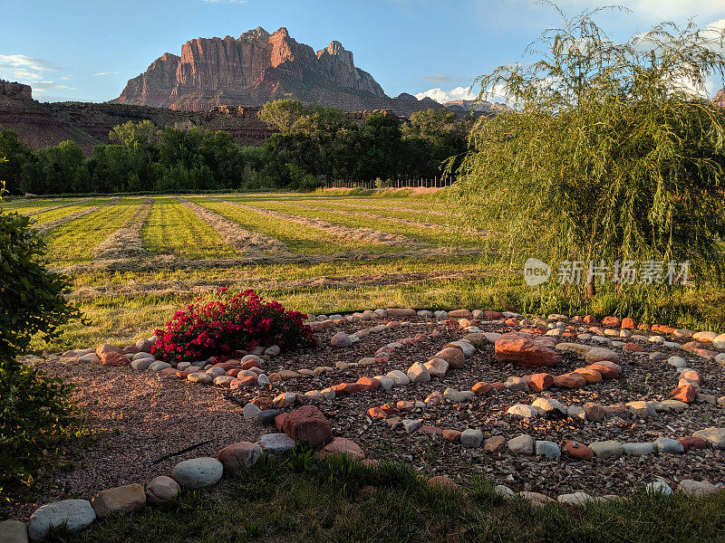
M64 327L51 345L36 341L38 350L128 343L221 286L253 288L314 314L390 306L582 309L567 308L565 297L556 294L533 304L519 273L506 271L507 285L492 282L504 271L483 252L485 234L454 234L452 210L442 195L324 191L4 205L23 213L32 209L39 228L50 225L43 233L49 263L69 275L70 298L88 320ZM104 260L100 247L112 245L121 231L136 235L140 256ZM594 300L588 309L608 314L611 301ZM688 291L662 300L662 319L720 329L724 302L722 291Z

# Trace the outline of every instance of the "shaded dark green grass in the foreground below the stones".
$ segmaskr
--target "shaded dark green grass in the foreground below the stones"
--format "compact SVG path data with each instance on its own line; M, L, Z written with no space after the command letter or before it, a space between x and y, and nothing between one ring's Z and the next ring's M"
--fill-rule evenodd
M444 490L405 465L366 468L297 453L284 464L259 462L211 489L186 491L162 507L102 519L80 535L58 529L48 540L705 543L722 540L723 506L723 492L692 500L639 491L584 510L537 507L505 499L481 477Z

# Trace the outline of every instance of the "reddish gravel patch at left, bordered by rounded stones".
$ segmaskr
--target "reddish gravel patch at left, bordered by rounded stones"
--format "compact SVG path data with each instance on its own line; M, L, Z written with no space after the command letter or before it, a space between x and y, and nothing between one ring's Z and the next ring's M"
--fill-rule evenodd
M216 456L229 443L256 441L264 427L245 420L241 407L216 387L131 367L68 363L59 357L39 360L51 376L76 385L75 400L100 439L68 458L72 472L56 472L37 500L0 505L0 519L27 520L45 503L68 498L90 500L104 489L168 475L177 462ZM159 463L161 457L196 443L209 442Z

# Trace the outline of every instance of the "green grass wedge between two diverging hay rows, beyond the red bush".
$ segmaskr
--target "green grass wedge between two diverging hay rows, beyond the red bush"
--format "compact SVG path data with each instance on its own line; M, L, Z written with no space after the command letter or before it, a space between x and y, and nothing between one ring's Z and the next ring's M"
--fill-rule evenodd
M234 247L176 198L154 199L141 235L150 253L190 260L237 256Z

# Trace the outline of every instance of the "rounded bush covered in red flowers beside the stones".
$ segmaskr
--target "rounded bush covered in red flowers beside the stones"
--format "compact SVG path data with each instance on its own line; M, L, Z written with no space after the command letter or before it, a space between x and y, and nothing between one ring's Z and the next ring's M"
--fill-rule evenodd
M156 330L152 354L166 362L226 360L237 351L278 345L282 349L314 347L312 329L303 324L306 315L285 311L278 302L262 300L255 291L197 301L179 310L166 328Z

